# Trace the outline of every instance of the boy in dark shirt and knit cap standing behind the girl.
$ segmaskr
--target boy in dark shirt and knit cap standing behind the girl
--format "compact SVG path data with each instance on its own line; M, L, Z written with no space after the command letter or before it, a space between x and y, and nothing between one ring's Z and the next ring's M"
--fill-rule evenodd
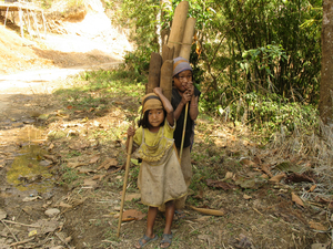
M174 144L180 153L184 117L185 117L185 106L188 107L188 117L185 124L185 137L182 151L181 167L184 176L186 186L189 187L192 178L192 165L190 157L190 149L193 144L194 138L194 121L198 117L198 101L201 92L193 85L193 72L189 61L184 58L173 59L173 89L172 89L172 100L171 104L174 110L174 118L176 121L175 131L173 134ZM175 201L176 209L183 209L185 206L186 197L178 199Z

